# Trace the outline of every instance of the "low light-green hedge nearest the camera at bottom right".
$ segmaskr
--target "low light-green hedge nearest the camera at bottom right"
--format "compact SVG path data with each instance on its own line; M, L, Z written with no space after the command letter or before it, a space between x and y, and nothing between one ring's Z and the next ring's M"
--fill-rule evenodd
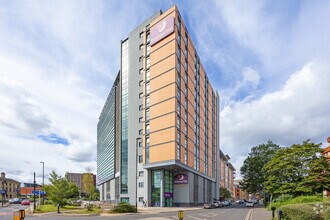
M320 220L310 205L286 205L282 207L285 220Z

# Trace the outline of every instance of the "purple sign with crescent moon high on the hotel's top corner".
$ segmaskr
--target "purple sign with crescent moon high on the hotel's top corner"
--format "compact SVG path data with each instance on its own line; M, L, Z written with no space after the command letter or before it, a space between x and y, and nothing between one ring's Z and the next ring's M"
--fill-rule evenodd
M159 21L150 31L150 44L156 44L161 39L172 34L174 31L174 17L168 16Z

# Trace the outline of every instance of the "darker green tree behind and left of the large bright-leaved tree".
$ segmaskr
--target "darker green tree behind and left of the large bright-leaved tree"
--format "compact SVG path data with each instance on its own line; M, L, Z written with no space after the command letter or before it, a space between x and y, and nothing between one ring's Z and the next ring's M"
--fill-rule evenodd
M240 186L244 191L249 194L263 192L265 177L262 169L279 149L272 141L251 149L240 170L243 177Z

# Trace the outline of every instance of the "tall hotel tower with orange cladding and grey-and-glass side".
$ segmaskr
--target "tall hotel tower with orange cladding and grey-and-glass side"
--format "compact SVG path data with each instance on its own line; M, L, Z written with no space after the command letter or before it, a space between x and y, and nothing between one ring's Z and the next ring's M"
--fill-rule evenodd
M97 125L100 199L193 206L219 197L219 96L176 6L121 42Z

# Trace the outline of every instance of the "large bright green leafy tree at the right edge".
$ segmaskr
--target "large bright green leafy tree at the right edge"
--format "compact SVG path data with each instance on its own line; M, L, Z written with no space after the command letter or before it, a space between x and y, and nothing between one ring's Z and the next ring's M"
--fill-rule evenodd
M270 193L314 195L330 187L330 165L321 156L321 144L309 141L282 148L264 166L264 184Z

